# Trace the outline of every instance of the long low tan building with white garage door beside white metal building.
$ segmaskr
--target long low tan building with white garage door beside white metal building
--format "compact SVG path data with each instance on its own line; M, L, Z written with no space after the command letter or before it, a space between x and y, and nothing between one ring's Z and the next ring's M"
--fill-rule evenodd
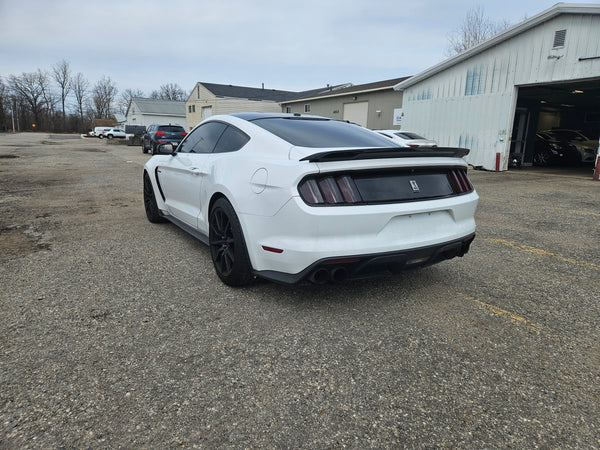
M325 92L284 101L284 112L347 120L371 129L401 127L402 93L394 86L409 77L331 87Z

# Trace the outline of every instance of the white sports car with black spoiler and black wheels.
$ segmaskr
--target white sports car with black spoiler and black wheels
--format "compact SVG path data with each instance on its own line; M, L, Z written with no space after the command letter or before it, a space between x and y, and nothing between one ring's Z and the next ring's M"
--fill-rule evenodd
M463 256L478 196L466 149L402 148L298 114L212 116L144 166L151 222L209 245L219 278L327 283Z

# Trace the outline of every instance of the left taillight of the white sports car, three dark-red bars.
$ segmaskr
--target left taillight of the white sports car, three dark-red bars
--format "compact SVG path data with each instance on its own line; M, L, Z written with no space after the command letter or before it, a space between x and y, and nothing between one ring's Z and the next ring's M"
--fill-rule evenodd
M311 177L298 186L300 197L309 205L343 205L362 201L351 177Z

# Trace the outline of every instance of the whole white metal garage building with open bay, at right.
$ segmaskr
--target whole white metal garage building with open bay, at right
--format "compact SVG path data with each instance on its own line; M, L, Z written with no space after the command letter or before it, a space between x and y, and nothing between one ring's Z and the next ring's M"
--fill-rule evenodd
M583 129L597 141L600 5L558 3L395 89L402 129L471 149L475 167L530 165L544 129Z

